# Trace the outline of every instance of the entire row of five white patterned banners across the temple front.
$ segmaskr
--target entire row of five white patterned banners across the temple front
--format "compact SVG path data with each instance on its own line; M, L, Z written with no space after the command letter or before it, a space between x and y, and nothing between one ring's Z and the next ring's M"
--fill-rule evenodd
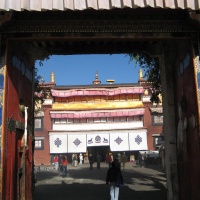
M111 151L148 150L147 130L102 131L99 133L50 132L50 153L86 152L87 147L110 146Z

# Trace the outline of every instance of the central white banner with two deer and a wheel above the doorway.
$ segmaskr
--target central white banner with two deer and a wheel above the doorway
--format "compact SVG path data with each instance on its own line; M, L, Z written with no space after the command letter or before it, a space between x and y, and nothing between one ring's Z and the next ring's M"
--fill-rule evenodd
M109 146L109 134L87 134L87 146Z

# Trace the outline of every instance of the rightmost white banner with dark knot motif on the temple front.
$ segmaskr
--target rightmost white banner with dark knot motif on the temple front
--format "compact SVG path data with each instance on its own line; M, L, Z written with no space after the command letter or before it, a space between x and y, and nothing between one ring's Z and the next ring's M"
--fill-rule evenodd
M147 130L135 130L129 133L130 151L148 150Z

